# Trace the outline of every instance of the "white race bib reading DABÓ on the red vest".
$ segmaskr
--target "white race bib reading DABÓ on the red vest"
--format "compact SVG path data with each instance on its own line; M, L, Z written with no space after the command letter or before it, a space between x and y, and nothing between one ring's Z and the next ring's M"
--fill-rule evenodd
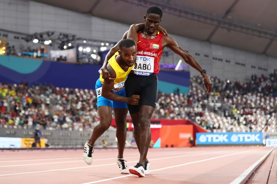
M151 75L154 72L154 57L137 55L132 72L142 76Z

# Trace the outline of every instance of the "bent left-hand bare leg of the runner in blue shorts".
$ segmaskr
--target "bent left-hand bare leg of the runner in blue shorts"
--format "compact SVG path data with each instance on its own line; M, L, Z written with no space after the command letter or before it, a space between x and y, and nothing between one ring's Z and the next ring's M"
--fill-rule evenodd
M88 143L93 146L95 141L111 126L112 108L110 106L98 107L100 123L93 128L92 135Z

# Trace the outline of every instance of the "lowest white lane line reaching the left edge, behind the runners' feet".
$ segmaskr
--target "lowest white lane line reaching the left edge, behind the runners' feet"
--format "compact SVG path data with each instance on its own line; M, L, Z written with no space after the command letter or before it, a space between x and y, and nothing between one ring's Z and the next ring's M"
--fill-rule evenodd
M223 152L223 151L221 151ZM214 154L214 153L218 153L218 152L211 152L209 154ZM182 156L171 156L171 157L162 157L162 158L154 158L154 159L149 159L149 160L163 160L163 159L168 159L168 158L180 158L180 157L187 157L187 156L194 156L194 155L205 155L207 153L199 153L199 154L189 154L189 155L182 155ZM164 154L162 154L164 155ZM172 155L172 154L171 154ZM151 156L160 156L159 155L151 155ZM129 156L126 158L134 158L134 157L138 157L138 156ZM75 158L75 157L74 157ZM81 157L78 157L79 159ZM102 158L102 159L93 159L93 161L101 161L101 160L114 160L115 158ZM20 165L8 165L8 166L0 166L0 167L15 167L15 166L32 166L32 165L45 165L45 164L61 164L61 163L71 163L71 162L84 162L83 160L74 160L74 161L63 161L63 162L46 162L46 163L36 163L36 164L20 164ZM131 161L130 163L132 163L133 161ZM129 162L126 162L129 163Z

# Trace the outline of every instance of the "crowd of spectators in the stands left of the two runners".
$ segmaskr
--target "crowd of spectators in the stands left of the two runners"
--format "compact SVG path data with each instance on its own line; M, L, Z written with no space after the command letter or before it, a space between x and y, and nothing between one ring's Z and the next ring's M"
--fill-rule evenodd
M99 121L92 90L0 83L0 127L89 130Z

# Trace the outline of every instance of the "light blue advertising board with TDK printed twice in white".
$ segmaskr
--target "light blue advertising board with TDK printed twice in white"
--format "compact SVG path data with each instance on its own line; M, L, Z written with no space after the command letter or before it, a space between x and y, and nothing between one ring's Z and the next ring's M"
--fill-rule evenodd
M220 144L262 144L261 132L247 133L196 133L197 145L220 145Z

